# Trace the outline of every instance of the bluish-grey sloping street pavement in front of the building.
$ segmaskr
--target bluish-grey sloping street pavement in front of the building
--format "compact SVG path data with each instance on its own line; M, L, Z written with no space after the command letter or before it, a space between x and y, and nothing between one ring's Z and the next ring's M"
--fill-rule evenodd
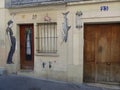
M0 90L120 90L87 84L43 80L19 75L0 76Z

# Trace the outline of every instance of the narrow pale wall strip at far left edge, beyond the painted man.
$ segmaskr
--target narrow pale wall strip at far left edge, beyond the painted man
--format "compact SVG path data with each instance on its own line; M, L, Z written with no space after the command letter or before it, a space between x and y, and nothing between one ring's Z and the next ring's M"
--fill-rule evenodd
M5 67L5 9L4 0L0 2L0 68Z

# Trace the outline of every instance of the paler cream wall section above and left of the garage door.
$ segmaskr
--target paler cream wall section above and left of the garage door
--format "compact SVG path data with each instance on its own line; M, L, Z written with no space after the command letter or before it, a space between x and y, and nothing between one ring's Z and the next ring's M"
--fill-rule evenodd
M72 78L73 82L83 82L83 70L84 70L84 24L85 23L112 23L112 22L120 22L120 12L119 12L120 2L106 2L106 3L88 3L88 4L74 4L68 5L68 11L71 12L71 16L69 16L70 25L72 25L73 30L72 39L73 39L73 53L69 54L73 55L73 63L69 65L68 78ZM100 11L101 6L108 6L108 11ZM75 13L77 11L82 11L83 15L81 17L81 21L83 24L83 28L76 29L75 28ZM72 18L74 17L74 18ZM70 36L70 34L69 34Z

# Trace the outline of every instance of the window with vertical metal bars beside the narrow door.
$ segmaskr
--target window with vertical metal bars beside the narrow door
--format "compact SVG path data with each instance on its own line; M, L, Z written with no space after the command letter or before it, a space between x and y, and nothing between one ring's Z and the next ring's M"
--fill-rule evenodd
M57 23L38 24L36 39L38 53L57 53Z

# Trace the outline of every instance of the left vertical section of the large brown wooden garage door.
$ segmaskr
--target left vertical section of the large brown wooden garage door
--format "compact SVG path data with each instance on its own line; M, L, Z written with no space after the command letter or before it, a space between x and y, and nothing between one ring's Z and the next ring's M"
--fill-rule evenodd
M93 27L85 27L84 48L84 81L95 81L95 30ZM88 38L89 37L89 38Z

